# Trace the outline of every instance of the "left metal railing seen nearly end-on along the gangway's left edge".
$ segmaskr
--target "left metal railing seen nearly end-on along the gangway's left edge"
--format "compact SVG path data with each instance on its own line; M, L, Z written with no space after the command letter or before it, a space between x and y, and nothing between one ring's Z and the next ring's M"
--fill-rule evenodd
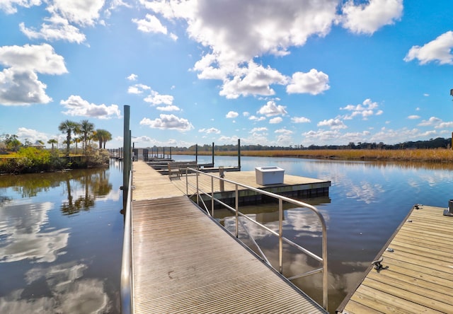
M121 313L134 313L132 290L132 171L129 173L129 186L127 189L127 202L125 207L125 231L122 242L121 260Z

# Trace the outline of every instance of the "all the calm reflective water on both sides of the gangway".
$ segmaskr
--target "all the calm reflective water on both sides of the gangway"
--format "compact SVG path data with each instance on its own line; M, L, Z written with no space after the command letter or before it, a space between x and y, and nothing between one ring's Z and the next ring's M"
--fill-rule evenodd
M193 156L173 156L194 160ZM199 158L208 163L210 157ZM216 157L215 165L237 165ZM286 174L331 180L329 197L305 199L328 224L329 310L333 313L413 204L447 207L453 167L447 163L375 163L297 158L241 158L242 170L277 165ZM228 178L228 173L226 173ZM122 170L0 177L0 313L119 313L123 217ZM243 208L271 228L273 206ZM217 218L232 228L231 215ZM275 239L248 224L276 264ZM302 209L285 210L285 236L319 253L320 226ZM242 239L248 243L245 235ZM284 273L318 267L292 252ZM321 301L321 276L295 282Z

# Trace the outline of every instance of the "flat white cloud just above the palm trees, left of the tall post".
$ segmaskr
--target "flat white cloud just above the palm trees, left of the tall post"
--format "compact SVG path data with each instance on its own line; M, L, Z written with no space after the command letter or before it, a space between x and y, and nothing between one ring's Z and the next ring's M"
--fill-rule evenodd
M96 117L98 119L111 119L112 117L121 117L118 105L96 105L88 103L79 95L70 95L67 100L59 102L67 111L63 111L64 115L79 116L79 117Z

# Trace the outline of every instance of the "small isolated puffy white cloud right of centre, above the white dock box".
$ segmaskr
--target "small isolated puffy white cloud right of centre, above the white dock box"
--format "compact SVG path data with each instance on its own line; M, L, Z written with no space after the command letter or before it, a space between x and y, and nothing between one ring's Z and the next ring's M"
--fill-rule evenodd
M311 69L308 73L296 72L292 74L291 83L286 87L287 93L310 93L318 95L327 91L331 86L328 85L328 75L316 69Z

